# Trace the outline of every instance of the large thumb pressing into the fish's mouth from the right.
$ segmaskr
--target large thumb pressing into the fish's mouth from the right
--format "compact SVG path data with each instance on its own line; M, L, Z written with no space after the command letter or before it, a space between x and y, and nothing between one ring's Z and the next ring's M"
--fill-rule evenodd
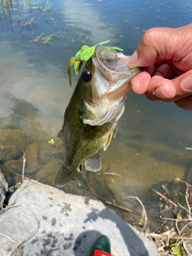
M127 66L130 69L151 66L158 57L180 61L186 54L184 49L186 50L189 35L192 35L192 24L176 29L149 29L144 33Z

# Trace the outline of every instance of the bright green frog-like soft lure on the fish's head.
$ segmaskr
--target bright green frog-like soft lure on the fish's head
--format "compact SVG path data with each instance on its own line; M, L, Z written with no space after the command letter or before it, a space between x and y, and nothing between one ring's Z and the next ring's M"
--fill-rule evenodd
M103 44L106 44L107 42L109 42L110 40L108 41L104 41L104 42L99 42L99 44L97 45L103 45ZM82 62L83 60L84 61L87 61L95 52L95 47L97 46L92 46L92 47L89 47L89 46L83 46L80 51L77 52L77 54L75 55L75 57L72 57L69 61L69 64L68 64L68 75L69 75L69 86L71 88L71 66L74 65L74 68L75 68L75 74L78 75L79 72L80 72L80 69L81 69L81 66L82 66ZM120 49L119 47L113 47L113 46L106 46L106 48L112 50L115 52L115 50L119 50L119 51L123 51L122 49Z

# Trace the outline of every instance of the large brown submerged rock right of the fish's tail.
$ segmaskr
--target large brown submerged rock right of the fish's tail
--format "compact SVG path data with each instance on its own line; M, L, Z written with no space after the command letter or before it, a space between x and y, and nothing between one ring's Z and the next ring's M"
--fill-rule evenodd
M139 198L146 198L153 184L172 181L176 177L182 179L185 174L185 168L182 166L146 156L135 148L128 147L115 140L111 141L108 150L100 151L100 155L102 160L100 172L115 173L120 176L98 176L97 173L88 172L91 184L95 183L94 188L89 186L89 180L86 180L92 193L95 193L95 191L92 191L93 189L96 188L97 191L100 191L104 187L105 189L102 189L102 191L107 192L108 196L102 196L109 200L115 198L121 202L123 196L133 194Z

